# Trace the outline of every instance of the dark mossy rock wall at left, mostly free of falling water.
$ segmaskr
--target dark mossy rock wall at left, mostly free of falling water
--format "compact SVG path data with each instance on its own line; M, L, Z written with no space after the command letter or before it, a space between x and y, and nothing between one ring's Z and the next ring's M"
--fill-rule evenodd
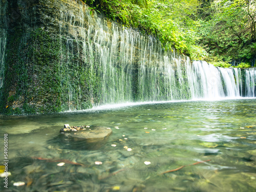
M90 72L81 66L85 62L78 54L82 45L72 33L60 34L60 10L76 10L74 5L73 1L8 1L1 113L51 113L92 106L95 91L88 86ZM78 87L78 94L71 95L69 90Z

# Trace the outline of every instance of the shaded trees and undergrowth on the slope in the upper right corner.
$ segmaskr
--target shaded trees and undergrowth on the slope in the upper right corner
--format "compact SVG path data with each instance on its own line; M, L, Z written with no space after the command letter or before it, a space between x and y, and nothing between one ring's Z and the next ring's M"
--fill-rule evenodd
M209 53L208 60L251 61L256 56L256 1L206 1L203 6L199 42Z

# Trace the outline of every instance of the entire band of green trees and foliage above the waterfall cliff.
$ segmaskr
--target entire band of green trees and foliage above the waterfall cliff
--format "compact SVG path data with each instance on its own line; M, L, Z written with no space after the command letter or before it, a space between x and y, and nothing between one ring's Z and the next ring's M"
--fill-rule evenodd
M84 0L126 27L154 35L191 59L251 62L256 57L253 0Z

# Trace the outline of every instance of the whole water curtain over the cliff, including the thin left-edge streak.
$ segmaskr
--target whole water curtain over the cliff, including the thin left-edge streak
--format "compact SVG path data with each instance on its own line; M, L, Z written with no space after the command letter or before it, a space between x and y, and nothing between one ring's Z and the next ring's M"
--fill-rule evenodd
M0 10L0 88L4 79L7 36L7 26L4 25L6 4L3 2ZM163 49L155 37L100 17L82 2L61 0L48 3L44 8L39 4L31 5L20 12L26 24L20 42L24 41L28 48L25 50L31 51L20 56L20 63L24 62L20 67L28 66L28 69L24 67L25 74L28 74L24 80L32 79L24 83L26 89L34 90L28 91L30 95L26 101L31 106L51 109L57 101L60 104L56 104L56 108L60 106L60 111L67 111L124 102L256 95L255 68L224 69L208 65L205 61L191 63L189 57L175 50ZM43 21L38 20L37 14L46 14L40 17ZM51 18L50 23L44 21L46 18ZM44 25L40 26L41 23ZM42 37L44 40L38 40ZM47 51L41 52L40 49ZM54 81L49 81L50 86L41 74L30 74L35 73L31 70L34 68L38 73L41 70L51 72L49 77ZM16 79L20 81L19 77ZM38 84L42 87L35 88ZM47 91L44 92L46 86ZM19 89L23 90L23 87ZM37 101L33 100L35 98ZM13 104L11 98L9 101ZM22 107L17 105L14 108L19 106Z

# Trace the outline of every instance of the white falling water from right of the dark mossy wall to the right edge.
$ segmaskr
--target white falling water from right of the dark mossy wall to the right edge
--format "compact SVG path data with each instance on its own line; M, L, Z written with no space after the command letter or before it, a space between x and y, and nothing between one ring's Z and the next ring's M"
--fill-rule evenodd
M61 38L66 39L66 50L59 63L64 70L61 81L66 82L62 100L68 103L68 110L79 110L83 97L80 85L72 83L73 77L67 75L69 71L76 73L76 67L83 67L84 73L88 73L93 106L255 97L255 69L242 75L241 69L218 68L205 61L191 64L188 57L163 50L153 37L99 18L95 12L91 15L86 5L80 4L78 12L63 9L59 20ZM76 55L83 58L82 63L74 62Z

